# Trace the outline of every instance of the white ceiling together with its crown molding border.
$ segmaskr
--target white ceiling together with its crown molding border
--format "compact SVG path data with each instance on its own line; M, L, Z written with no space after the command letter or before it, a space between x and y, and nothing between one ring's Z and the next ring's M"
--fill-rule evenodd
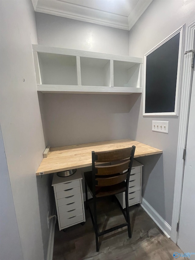
M32 0L34 10L130 30L152 0Z

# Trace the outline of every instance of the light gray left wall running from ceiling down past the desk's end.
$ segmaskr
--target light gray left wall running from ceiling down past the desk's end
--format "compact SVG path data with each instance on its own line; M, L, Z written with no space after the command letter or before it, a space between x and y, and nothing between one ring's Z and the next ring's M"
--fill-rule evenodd
M2 229L1 236L9 246L1 259L12 259L14 255L15 260L41 260L46 257L49 229L44 228L45 215L51 211L51 205L47 195L45 201L38 201L40 195L48 193L47 177L35 175L45 149L31 45L37 44L35 15L30 0L2 0L0 5L0 120L9 171L8 178L4 167L1 184L8 188L2 198L12 214L5 219L5 211L1 219L1 225L7 228L7 233Z

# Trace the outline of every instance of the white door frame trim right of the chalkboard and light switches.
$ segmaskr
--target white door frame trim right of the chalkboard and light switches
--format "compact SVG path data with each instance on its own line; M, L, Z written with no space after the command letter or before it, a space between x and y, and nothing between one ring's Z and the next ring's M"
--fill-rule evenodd
M186 27L186 40L185 50L189 51L193 49L195 44L195 21ZM175 187L173 198L173 212L172 212L172 225L171 225L171 240L177 243L177 222L179 222L181 198L183 189L183 174L185 160L183 159L183 151L186 148L187 142L187 130L190 112L190 98L192 88L192 76L193 68L191 67L192 53L184 55L183 59L183 81L181 88L181 109L180 109L180 121L179 121L179 136L177 146L177 159L176 159L176 175L175 175Z

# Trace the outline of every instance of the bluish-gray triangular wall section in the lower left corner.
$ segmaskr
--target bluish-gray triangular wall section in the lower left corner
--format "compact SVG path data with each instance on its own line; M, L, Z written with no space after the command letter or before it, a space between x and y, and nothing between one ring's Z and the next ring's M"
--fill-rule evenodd
M0 126L0 259L23 259ZM10 247L11 245L11 247ZM10 250L11 248L11 250Z

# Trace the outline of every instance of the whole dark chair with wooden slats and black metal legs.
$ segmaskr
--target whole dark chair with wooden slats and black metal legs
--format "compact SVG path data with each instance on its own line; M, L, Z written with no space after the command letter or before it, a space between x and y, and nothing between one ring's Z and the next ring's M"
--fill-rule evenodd
M86 208L89 208L92 223L96 238L96 251L99 251L98 237L106 233L112 232L124 226L128 228L128 236L131 238L131 226L129 219L129 204L128 204L128 184L135 146L130 148L94 152L92 151L92 171L85 172L85 194L86 194ZM87 197L87 187L93 196L94 217L89 207ZM105 197L120 192L125 192L126 212L123 210L119 201L118 204L125 217L126 223L112 227L100 232L97 224L96 200L98 197Z

